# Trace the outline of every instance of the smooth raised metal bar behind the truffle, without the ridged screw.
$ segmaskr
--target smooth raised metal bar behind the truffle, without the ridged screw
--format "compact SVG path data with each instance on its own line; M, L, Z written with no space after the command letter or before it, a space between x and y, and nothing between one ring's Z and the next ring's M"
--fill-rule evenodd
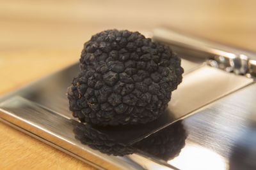
M248 56L250 59L256 59L253 52L180 34L166 28L154 29L152 35L152 38L156 41L168 43L180 55L187 58L195 58L194 60L199 60L198 58L205 59L205 57L210 58L216 55L234 59L241 54Z

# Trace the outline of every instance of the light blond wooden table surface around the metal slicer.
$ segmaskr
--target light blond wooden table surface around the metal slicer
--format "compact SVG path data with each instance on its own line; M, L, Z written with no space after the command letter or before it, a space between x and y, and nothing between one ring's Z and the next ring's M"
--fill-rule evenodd
M0 0L0 94L66 67L105 29L170 27L256 51L256 1ZM93 169L0 123L0 169Z

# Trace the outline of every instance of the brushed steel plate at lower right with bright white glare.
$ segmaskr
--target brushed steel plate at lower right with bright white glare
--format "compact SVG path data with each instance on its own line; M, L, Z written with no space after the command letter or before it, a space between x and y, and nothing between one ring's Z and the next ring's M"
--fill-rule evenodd
M179 169L256 169L255 100L253 84L185 118L186 146L168 163Z

